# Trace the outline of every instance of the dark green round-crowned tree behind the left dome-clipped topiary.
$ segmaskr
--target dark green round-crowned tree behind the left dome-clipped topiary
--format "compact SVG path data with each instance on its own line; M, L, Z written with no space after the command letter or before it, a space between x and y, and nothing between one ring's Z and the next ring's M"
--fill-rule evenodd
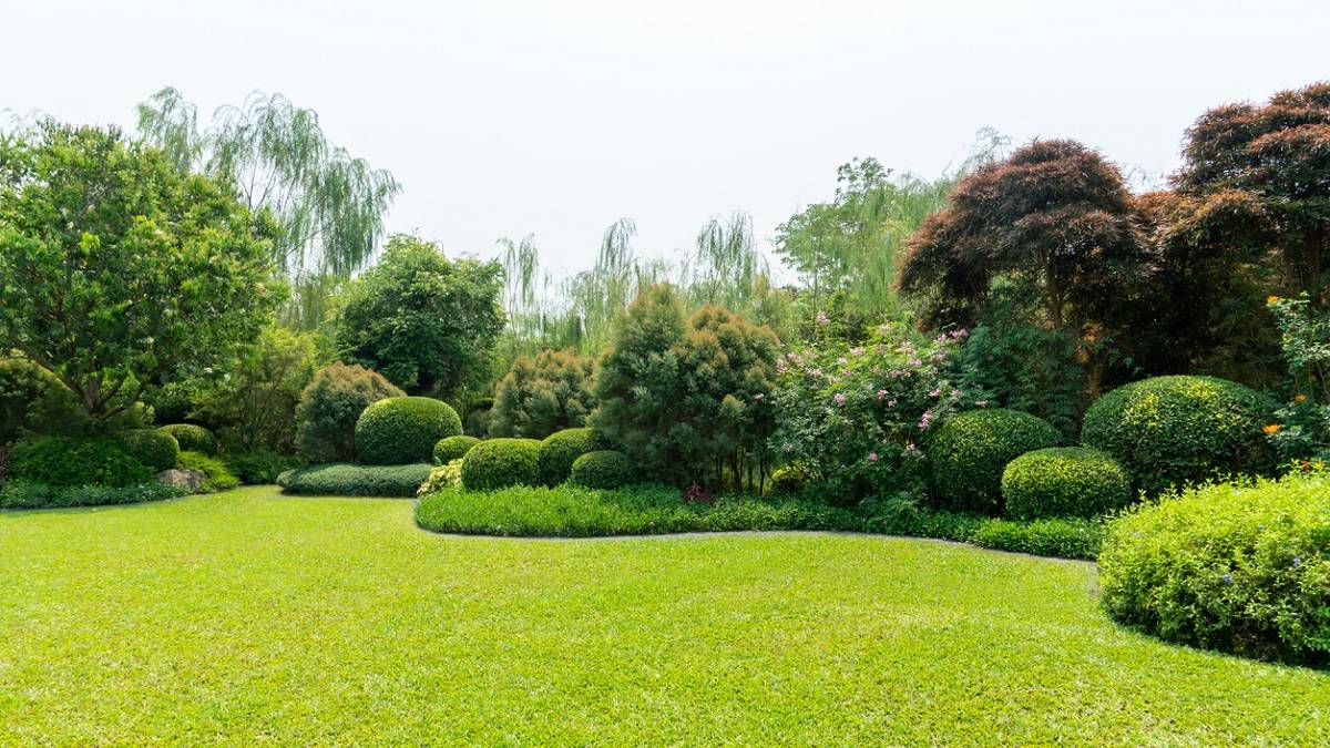
M396 234L347 291L336 323L344 361L408 394L455 398L488 385L503 331L497 262L448 260L434 242Z

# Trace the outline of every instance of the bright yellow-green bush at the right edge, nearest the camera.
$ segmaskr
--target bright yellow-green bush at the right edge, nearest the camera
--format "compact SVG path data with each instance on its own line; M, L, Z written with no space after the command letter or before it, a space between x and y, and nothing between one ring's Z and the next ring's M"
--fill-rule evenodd
M1166 494L1108 526L1104 608L1161 639L1330 661L1330 474Z

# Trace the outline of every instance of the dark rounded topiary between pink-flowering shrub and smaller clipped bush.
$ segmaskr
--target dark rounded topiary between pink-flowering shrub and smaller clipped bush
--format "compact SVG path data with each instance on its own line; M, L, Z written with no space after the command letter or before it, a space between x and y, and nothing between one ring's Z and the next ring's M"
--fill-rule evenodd
M1019 410L962 413L928 439L932 490L944 508L1001 514L1001 472L1017 457L1063 443L1052 423Z

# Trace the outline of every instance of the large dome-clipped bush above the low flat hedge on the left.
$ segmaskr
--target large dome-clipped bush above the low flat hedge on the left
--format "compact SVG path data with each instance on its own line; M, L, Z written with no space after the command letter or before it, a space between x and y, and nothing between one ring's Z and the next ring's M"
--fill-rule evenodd
M364 465L415 465L434 459L444 437L462 434L458 411L434 398L387 398L355 422L355 457Z

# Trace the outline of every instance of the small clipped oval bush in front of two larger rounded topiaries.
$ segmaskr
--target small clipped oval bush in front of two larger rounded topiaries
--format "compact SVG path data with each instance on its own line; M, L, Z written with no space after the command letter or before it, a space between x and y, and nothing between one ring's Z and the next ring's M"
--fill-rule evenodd
M1132 480L1108 453L1051 447L1007 463L1001 495L1008 516L1097 516L1132 500Z

